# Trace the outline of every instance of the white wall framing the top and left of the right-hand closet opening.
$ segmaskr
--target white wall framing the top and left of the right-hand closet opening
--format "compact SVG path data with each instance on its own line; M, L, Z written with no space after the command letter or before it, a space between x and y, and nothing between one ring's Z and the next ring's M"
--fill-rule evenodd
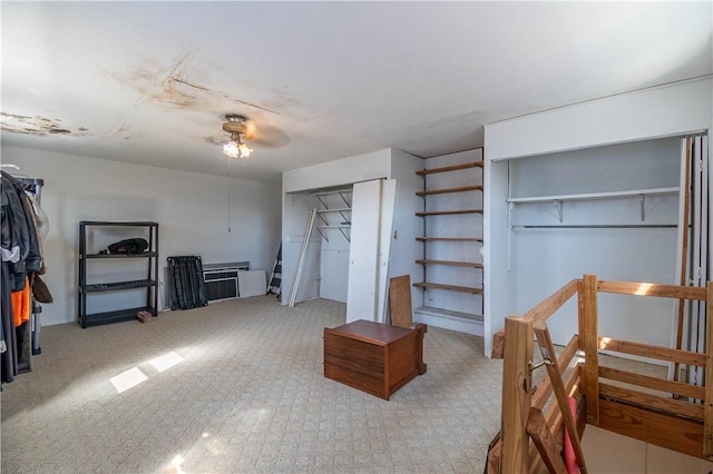
M486 355L490 355L492 334L515 310L521 286L516 284L512 268L508 268L508 211L504 200L508 195L508 169L507 162L499 160L706 130L713 127L712 90L713 80L707 78L486 126ZM627 166L627 157L621 159L621 165Z

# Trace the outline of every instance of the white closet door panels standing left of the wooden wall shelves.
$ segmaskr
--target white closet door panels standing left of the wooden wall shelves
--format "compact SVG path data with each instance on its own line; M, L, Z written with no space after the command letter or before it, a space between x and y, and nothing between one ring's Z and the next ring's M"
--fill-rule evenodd
M397 181L378 179L354 185L346 323L385 319L389 254Z

